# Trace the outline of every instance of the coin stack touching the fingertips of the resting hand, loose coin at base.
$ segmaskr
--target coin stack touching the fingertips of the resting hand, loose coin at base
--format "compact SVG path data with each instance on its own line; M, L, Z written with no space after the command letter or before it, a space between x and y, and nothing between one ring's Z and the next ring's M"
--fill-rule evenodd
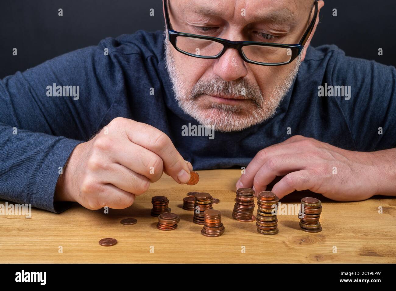
M232 217L238 221L252 222L256 217L253 215L254 210L254 190L250 188L239 188L236 190L236 203Z

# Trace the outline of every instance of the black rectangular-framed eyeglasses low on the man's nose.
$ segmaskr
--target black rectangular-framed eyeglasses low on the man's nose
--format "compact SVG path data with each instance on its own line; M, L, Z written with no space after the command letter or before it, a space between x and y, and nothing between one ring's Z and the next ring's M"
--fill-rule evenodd
M236 49L245 62L262 66L286 65L293 62L300 55L314 28L316 16L318 15L317 0L315 0L314 6L314 17L308 25L307 31L301 41L297 44L281 44L245 41L233 42L223 38L175 31L172 29L169 21L168 0L164 0L165 21L168 28L169 42L177 51L190 57L219 59L227 49Z

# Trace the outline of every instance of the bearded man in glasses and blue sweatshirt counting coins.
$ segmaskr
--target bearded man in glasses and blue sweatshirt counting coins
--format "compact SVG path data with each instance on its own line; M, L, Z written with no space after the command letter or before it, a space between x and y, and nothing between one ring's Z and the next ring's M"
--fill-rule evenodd
M0 198L126 208L192 164L247 165L236 187L256 194L284 176L279 198L394 195L396 70L310 47L323 6L168 0L165 36L107 38L4 78ZM186 130L199 125L215 135Z

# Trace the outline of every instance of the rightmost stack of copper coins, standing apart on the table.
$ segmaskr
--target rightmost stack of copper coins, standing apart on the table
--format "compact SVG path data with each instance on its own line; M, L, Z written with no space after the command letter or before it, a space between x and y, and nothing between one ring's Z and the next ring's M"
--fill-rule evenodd
M319 218L322 213L322 202L319 199L305 197L301 199L300 227L306 232L320 232Z

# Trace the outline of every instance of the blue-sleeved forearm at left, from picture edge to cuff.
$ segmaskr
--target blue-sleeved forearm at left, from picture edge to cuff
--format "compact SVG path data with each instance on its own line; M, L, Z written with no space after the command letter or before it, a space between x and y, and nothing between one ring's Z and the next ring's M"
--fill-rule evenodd
M0 124L0 198L62 212L54 202L55 185L70 152L79 142Z

